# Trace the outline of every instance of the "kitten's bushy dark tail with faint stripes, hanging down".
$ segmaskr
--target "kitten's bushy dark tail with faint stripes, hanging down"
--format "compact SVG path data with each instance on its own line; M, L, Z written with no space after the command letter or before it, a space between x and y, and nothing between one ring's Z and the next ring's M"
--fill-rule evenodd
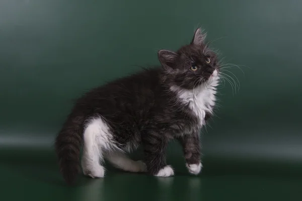
M84 116L70 115L55 140L60 171L69 185L74 183L81 170L80 150L84 120Z

